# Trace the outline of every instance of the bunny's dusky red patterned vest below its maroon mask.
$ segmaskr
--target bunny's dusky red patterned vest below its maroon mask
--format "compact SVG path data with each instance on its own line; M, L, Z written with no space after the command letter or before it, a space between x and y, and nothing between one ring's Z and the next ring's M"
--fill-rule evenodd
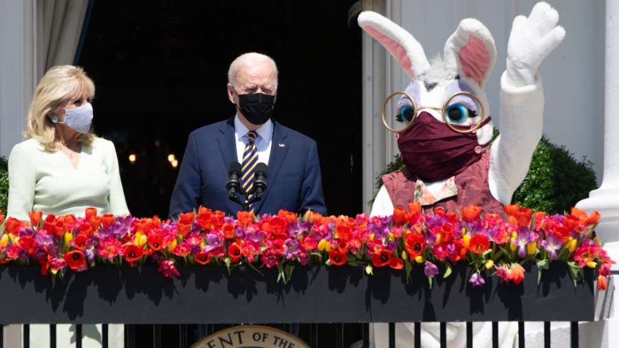
M455 184L458 194L453 197L442 199L431 206L423 206L426 213L432 213L435 207L442 207L445 211L461 213L462 207L473 204L481 206L481 216L488 213L498 214L506 219L503 204L497 201L490 193L488 186L488 167L490 165L490 150L485 151L481 158L468 166L463 172L455 175ZM382 176L382 182L387 188L389 198L394 207L402 207L408 210L409 203L415 199L415 186L417 176L408 168L402 168Z

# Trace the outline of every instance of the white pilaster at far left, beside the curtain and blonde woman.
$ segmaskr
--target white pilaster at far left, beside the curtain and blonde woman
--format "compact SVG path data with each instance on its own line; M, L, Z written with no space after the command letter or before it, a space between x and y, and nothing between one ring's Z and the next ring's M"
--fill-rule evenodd
M0 156L21 142L36 86L38 0L0 1Z

